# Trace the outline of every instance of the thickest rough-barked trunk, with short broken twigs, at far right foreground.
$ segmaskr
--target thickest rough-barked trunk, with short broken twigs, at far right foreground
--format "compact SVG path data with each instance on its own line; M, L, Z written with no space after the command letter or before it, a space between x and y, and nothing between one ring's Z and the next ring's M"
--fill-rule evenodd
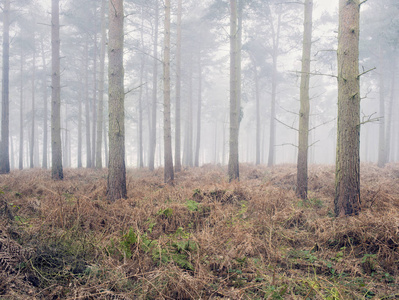
M336 216L360 212L359 6L339 1Z

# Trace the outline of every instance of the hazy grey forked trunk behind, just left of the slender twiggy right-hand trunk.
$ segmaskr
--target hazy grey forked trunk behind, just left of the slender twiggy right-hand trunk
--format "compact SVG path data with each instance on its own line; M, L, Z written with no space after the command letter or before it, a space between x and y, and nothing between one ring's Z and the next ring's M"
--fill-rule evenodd
M281 29L281 15L282 10L278 8L277 12L277 28L274 28L273 20L272 24L272 37L273 37L273 70L272 70L272 99L270 107L270 135L269 135L269 157L267 165L273 166L276 161L275 157L275 146L276 146L276 96L277 96L277 60L279 56L279 44L280 44L280 29Z

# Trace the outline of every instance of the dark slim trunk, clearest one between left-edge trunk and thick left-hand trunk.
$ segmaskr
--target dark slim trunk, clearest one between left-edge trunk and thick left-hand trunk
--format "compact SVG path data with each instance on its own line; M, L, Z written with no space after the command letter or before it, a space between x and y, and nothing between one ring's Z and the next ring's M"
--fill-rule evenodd
M51 177L62 180L59 0L51 3Z

